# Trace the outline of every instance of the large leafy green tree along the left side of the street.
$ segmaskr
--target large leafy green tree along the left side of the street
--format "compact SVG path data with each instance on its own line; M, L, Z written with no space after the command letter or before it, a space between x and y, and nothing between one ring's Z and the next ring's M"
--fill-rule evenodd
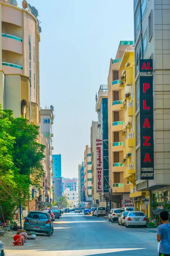
M0 107L0 205L6 219L31 198L31 186L41 187L45 146L38 135L39 127Z

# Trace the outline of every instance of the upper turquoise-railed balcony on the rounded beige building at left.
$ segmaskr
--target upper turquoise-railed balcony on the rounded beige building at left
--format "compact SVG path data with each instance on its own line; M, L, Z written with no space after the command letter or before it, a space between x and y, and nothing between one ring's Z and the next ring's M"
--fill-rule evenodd
M23 39L2 33L2 49L23 55Z

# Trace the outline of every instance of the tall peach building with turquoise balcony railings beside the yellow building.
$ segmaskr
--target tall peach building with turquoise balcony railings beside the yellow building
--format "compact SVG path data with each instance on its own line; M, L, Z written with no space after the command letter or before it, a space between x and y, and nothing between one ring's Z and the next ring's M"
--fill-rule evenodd
M122 131L124 112L122 103L122 82L119 66L125 49L133 41L120 41L116 58L111 59L108 74L108 144L109 144L109 200L113 207L122 205L123 193L130 192L130 184L124 178L124 136Z

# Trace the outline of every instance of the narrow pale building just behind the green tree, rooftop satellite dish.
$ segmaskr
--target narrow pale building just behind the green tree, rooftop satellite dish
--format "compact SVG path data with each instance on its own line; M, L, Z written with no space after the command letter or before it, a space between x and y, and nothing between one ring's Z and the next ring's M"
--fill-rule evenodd
M41 114L41 125L40 125L40 133L41 133L41 143L46 146L45 148L45 158L43 160L43 166L45 170L45 177L42 180L42 197L45 195L45 202L53 202L54 201L54 185L53 185L53 167L52 167L52 151L53 151L53 133L52 133L52 125L54 121L54 114L52 109L40 109ZM40 200L42 201L42 200Z

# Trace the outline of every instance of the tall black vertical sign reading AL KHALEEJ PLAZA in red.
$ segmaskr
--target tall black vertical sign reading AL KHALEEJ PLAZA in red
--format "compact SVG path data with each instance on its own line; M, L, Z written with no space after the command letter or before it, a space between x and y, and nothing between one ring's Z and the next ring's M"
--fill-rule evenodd
M139 60L141 180L154 179L153 60Z

